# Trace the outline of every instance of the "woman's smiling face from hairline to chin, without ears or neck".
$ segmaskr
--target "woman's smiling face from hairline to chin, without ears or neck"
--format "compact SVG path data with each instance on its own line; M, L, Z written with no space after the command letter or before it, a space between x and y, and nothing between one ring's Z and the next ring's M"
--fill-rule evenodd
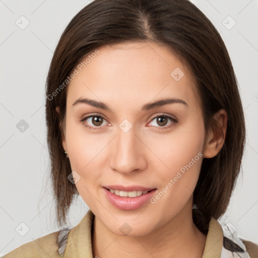
M114 234L140 236L184 223L205 157L195 81L155 43L98 50L67 93L62 143L76 187Z

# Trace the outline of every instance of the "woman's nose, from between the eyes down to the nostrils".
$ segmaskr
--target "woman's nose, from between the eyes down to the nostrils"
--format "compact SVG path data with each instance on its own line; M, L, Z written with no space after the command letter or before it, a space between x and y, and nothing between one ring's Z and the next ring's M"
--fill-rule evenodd
M133 125L127 121L119 124L111 153L111 167L120 173L142 169L143 153Z

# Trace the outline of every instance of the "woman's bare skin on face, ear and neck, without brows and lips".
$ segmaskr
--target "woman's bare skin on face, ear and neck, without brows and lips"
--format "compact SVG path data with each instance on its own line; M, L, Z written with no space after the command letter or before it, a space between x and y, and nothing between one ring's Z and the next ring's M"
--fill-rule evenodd
M203 158L217 155L224 136L217 130L205 139L196 82L166 47L131 42L98 49L69 85L62 138L72 170L81 176L76 187L95 214L93 257L201 257L206 235L192 221L193 190ZM175 68L184 73L179 81L170 76ZM85 103L73 106L83 97L102 101L112 111ZM171 103L141 111L144 104L168 97L188 106ZM94 117L80 121L94 113L104 117L102 124ZM178 122L168 118L162 126L157 115ZM216 116L225 135L225 110ZM127 133L119 127L124 119L133 126ZM198 153L203 156L155 204L125 211L105 197L102 185L108 184L142 185L158 193ZM119 230L124 223L132 229L126 236Z

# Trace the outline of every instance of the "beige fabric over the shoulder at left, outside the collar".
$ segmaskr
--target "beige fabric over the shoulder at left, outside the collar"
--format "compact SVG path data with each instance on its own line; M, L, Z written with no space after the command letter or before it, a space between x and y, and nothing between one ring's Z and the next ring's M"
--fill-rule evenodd
M70 232L69 228L64 228L60 231L56 231L33 241L25 243L8 254L2 256L2 258L19 258L19 257L33 257L33 258L55 258L60 257L66 244L67 236Z

